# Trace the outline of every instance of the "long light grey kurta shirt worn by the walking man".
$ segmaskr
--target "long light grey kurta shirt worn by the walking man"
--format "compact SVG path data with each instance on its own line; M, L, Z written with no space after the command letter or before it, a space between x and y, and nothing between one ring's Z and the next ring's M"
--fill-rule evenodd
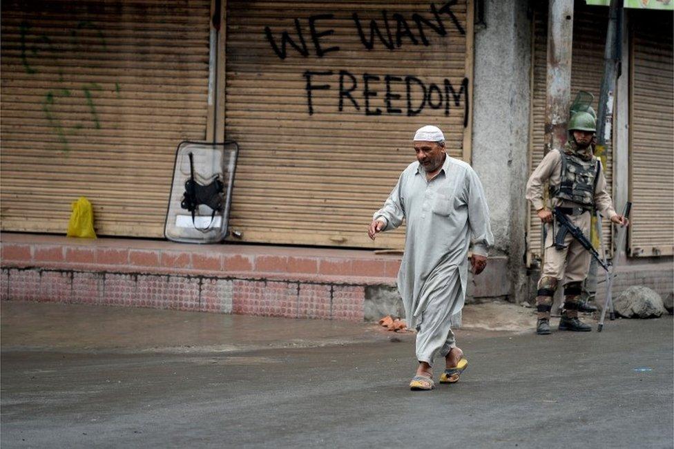
M447 316L459 312L465 301L468 249L488 255L494 236L482 184L469 164L445 157L430 182L418 162L403 171L384 207L374 213L384 231L407 223L405 255L398 273L407 325L418 327L430 300L444 297ZM459 273L461 288L450 282Z

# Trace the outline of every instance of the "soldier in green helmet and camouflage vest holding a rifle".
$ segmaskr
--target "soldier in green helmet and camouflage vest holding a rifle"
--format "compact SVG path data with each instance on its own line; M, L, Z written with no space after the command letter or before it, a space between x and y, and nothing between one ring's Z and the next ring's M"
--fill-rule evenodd
M559 330L589 332L592 328L578 319L581 309L581 288L590 268L590 253L568 233L564 249L554 245L555 232L559 229L552 212L543 200L543 185L550 185L552 207L564 213L590 236L591 211L596 208L601 216L614 223L627 225L627 220L613 209L613 202L606 192L606 178L601 161L592 153L593 135L596 131L595 116L587 111L572 115L568 127L568 142L562 151L552 150L532 173L526 187L526 198L532 202L538 217L546 227L545 262L538 283L536 305L539 335L550 334L550 309L552 297L559 283L564 280L564 311Z

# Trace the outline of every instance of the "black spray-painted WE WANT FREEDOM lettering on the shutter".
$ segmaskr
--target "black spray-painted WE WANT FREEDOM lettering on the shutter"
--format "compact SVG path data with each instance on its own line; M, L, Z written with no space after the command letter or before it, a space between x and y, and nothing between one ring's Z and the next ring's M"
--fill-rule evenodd
M461 22L457 19L452 7L456 0L448 1L437 7L430 4L430 17L427 19L414 12L405 18L395 12L381 11L381 19L372 19L363 23L357 12L350 19L352 30L365 50L395 51L403 46L430 46L430 36L445 37L448 28L460 35L465 35ZM321 28L320 23L334 21L334 14L312 15L306 19L309 33L305 36L299 18L293 19L295 29L283 30L274 35L269 26L264 27L264 37L269 42L276 57L285 60L291 55L309 58L325 58L336 54L340 46L331 44L330 37L335 34L334 28ZM339 19L339 18L338 18ZM307 44L307 42L310 44ZM365 115L407 115L422 113L425 108L441 109L450 115L450 109L461 106L463 99L464 126L468 117L468 79L463 78L459 85L452 84L450 79L430 82L414 75L404 74L354 74L344 68L334 70L305 70L300 76L305 78L307 111L309 115L316 113L312 101L316 91L331 91L336 98L339 112L349 109Z

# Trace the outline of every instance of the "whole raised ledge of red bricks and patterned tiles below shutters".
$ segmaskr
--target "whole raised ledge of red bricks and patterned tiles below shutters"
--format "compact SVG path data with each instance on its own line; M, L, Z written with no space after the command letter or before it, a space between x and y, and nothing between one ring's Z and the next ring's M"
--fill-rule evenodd
M0 234L2 300L363 321L365 287L395 285L401 256Z

